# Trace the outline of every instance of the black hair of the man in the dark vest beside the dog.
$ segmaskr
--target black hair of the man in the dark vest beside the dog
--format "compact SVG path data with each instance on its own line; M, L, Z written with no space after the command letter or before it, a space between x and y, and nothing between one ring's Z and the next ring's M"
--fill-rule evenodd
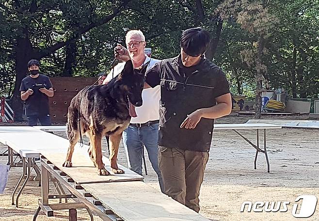
M182 33L180 46L186 54L197 57L206 51L209 41L209 32L202 28L192 28Z

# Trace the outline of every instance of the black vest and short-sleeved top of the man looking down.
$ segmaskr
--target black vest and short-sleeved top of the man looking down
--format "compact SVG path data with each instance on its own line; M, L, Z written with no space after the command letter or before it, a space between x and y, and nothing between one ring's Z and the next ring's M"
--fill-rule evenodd
M214 106L215 97L229 93L223 72L206 59L187 68L176 57L162 61L160 78L159 145L208 152L214 119L202 118L194 129L180 125L188 114Z

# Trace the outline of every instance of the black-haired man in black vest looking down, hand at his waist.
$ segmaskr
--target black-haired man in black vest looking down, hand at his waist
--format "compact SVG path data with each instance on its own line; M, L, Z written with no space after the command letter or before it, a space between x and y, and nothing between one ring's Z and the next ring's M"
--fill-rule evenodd
M165 193L199 211L199 190L208 160L214 119L231 112L228 82L204 53L209 33L182 33L180 55L146 73L145 88L160 85L159 168Z

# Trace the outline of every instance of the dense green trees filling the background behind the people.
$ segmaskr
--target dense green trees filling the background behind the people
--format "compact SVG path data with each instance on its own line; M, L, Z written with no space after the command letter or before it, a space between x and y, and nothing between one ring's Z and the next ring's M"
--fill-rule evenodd
M141 29L152 56L163 59L178 55L181 32L197 26L211 33L217 48L209 47L207 55L223 68L233 94L255 95L258 67L268 89L282 87L300 97L319 95L319 0L272 0L267 4L253 0L131 0L120 14L99 23L123 2L1 0L2 95L12 95L16 72L21 70L17 67L17 51L24 52L17 48L21 39L32 48L26 57L41 58L43 73L62 76L66 64L72 62L73 76L92 77L109 69L113 47L117 42L125 45L130 29ZM81 32L90 25L94 28ZM262 63L256 65L260 36L265 45ZM72 52L64 45L52 49L70 39L74 39Z

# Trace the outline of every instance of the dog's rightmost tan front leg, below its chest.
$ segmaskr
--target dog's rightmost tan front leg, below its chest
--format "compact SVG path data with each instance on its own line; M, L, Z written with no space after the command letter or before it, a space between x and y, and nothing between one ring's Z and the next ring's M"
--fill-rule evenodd
M110 136L110 163L114 174L124 174L124 171L117 166L117 153L120 146L122 133Z

